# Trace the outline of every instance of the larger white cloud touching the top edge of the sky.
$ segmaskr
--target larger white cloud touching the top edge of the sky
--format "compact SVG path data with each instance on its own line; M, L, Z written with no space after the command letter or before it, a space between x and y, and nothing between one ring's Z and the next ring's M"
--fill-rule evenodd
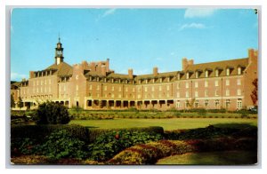
M217 9L187 9L184 18L205 18L211 16Z

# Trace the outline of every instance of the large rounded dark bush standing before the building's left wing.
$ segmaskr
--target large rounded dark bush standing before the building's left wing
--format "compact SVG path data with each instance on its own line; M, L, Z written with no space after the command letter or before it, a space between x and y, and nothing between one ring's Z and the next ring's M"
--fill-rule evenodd
M67 124L70 121L67 107L51 101L39 105L34 117L36 124Z

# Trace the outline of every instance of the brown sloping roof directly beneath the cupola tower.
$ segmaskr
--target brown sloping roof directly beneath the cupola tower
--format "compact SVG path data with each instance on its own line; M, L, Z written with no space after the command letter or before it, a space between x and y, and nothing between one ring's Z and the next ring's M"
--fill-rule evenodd
M53 64L45 68L45 70L49 69L56 69L56 72L53 75L72 75L72 67L65 62L61 62L59 65Z

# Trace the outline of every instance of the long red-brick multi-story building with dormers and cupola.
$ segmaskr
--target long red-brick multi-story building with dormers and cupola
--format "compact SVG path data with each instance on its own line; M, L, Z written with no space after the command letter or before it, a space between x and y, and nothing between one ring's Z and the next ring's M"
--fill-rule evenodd
M11 92L25 107L46 100L67 107L85 109L176 109L253 106L251 99L257 78L258 52L249 49L247 58L194 64L182 59L182 70L150 75L117 74L109 69L109 59L70 66L64 62L61 41L55 48L55 62L40 71L30 71L29 79L12 83Z

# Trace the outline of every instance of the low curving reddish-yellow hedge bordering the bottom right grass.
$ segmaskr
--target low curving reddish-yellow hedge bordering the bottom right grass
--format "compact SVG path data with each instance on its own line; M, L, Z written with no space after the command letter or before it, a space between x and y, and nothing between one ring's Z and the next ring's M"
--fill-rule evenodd
M256 152L256 149L256 138L161 140L127 148L115 155L107 164L154 164L161 158L175 154L225 150L253 150Z

